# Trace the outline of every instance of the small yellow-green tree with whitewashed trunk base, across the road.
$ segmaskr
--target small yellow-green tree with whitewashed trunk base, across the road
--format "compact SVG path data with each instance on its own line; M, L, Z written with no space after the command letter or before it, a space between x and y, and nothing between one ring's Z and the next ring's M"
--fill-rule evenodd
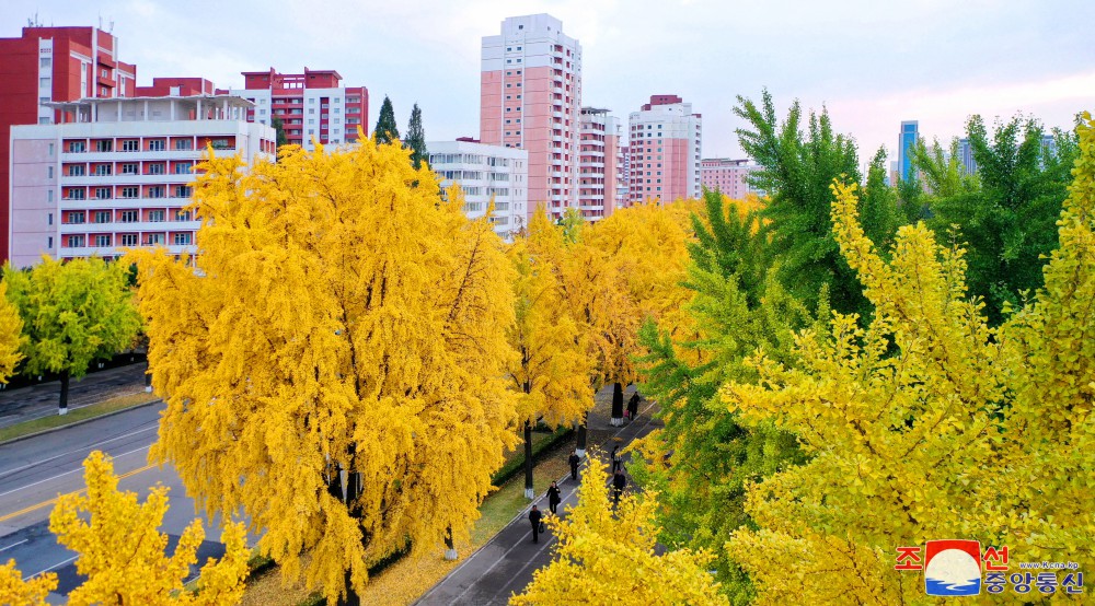
M129 268L97 257L61 263L43 257L16 271L4 267L8 298L23 317L26 372L60 375L58 413L68 412L69 381L134 343L140 316L129 288Z

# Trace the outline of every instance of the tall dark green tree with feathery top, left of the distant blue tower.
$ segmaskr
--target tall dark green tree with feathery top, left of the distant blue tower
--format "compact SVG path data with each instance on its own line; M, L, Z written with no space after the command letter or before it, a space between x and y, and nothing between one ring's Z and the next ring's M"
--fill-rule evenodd
M828 284L834 310L865 312L860 283L840 256L829 220L832 179L860 182L855 142L833 131L825 108L820 115L809 113L804 132L797 101L781 124L766 90L760 106L738 96L734 113L748 124L737 130L741 148L762 167L751 179L771 197L763 215L780 256L781 280L807 307L817 306Z

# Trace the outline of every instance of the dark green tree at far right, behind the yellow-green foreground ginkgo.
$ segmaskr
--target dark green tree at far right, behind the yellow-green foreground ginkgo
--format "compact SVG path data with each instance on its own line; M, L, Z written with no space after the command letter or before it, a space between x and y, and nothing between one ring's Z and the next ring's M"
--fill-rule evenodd
M968 250L970 294L986 302L990 325L1000 324L1005 305L1042 283L1045 257L1057 247L1056 222L1072 180L1076 158L1073 133L1054 131L1056 151L1045 147L1046 130L1033 118L1013 118L986 128L970 118L967 136L978 165L977 179L956 180L956 160L945 167L938 158L921 158L936 233L957 232ZM942 153L942 152L936 152ZM952 154L953 156L954 154ZM945 168L942 176L930 176Z

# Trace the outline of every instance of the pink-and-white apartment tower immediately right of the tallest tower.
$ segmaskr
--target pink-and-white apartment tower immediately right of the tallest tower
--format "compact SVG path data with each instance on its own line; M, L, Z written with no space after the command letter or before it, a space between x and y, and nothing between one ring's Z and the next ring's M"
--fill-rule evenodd
M580 125L578 208L587 221L599 221L624 202L620 119L608 109L583 107Z

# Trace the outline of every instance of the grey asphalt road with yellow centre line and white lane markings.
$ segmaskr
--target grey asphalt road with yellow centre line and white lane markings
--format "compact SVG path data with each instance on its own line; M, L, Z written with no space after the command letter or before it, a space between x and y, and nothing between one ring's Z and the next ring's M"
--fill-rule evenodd
M114 473L123 478L120 489L143 499L148 488L158 482L170 488L171 508L160 529L169 535L169 552L173 550L178 534L197 515L175 470L147 462L163 406L157 403L0 445L0 560L14 558L24 578L57 572L59 595L53 595L54 601L62 599L81 582L72 563L76 553L57 544L48 520L58 494L83 489L81 464L93 450L114 457ZM205 521L208 538L219 538L218 523ZM198 561L204 563L207 557L221 553L221 544L207 540L198 551Z

